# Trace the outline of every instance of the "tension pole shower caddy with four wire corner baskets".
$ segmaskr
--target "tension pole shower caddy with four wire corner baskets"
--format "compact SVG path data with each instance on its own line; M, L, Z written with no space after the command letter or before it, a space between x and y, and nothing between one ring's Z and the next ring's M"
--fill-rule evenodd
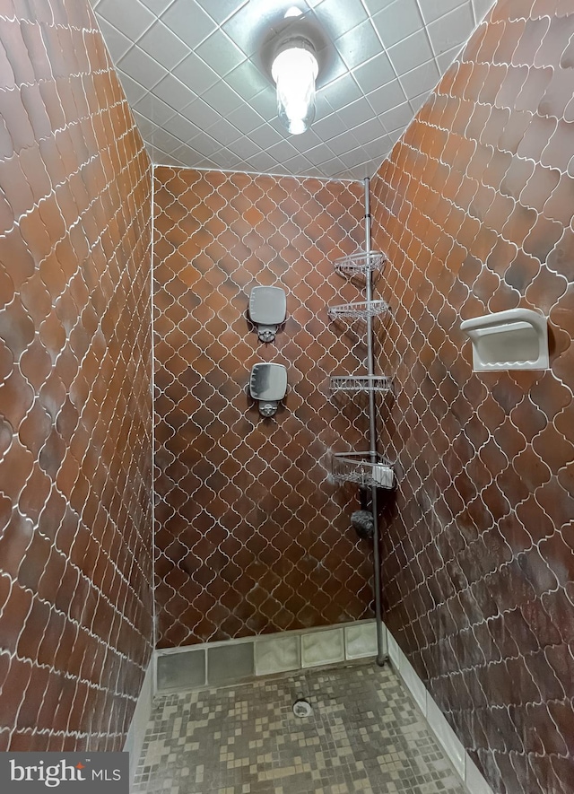
M373 320L388 311L385 301L373 298L374 276L385 264L385 256L370 248L370 181L365 185L365 250L350 257L335 261L337 273L350 278L364 276L365 300L332 306L329 317L361 319L366 323L366 375L334 376L330 380L331 391L367 392L369 396L369 450L367 452L345 452L333 456L333 476L338 482L355 483L361 488L370 488L373 518L373 584L375 598L375 622L377 625L377 663L383 665L387 659L383 641L383 621L380 592L380 553L378 531L378 488L392 488L394 472L386 458L377 450L377 414L375 397L378 392L391 389L391 379L375 375L373 353Z

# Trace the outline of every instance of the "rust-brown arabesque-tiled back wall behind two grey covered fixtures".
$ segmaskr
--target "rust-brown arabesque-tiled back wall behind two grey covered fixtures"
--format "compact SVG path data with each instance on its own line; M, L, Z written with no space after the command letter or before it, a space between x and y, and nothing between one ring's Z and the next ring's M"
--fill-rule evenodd
M155 170L154 333L160 647L370 616L370 545L333 448L361 445L364 401L328 393L364 364L361 327L329 321L357 285L335 257L364 240L354 182ZM287 319L264 345L257 284L283 287ZM286 366L278 413L248 397L256 362Z

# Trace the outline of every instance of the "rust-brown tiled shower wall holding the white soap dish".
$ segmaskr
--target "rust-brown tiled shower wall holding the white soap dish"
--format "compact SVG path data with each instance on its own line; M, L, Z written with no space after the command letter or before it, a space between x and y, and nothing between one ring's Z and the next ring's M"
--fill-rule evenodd
M373 181L398 458L386 620L492 789L574 790L574 4L500 2ZM474 374L460 322L549 318Z

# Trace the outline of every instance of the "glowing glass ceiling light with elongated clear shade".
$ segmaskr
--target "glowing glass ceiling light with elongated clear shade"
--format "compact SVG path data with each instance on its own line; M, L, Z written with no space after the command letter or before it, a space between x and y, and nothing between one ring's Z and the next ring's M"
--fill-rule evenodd
M315 118L315 48L303 36L285 39L275 51L271 74L277 84L277 113L291 135L309 129Z

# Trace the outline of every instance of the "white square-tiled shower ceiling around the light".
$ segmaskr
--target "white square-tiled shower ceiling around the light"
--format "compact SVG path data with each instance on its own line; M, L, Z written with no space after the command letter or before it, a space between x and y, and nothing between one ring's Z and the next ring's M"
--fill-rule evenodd
M317 116L303 135L280 124L266 63L292 24L284 19L290 4L304 12L300 24L316 42L320 65ZM92 5L154 161L362 179L378 168L491 2Z

